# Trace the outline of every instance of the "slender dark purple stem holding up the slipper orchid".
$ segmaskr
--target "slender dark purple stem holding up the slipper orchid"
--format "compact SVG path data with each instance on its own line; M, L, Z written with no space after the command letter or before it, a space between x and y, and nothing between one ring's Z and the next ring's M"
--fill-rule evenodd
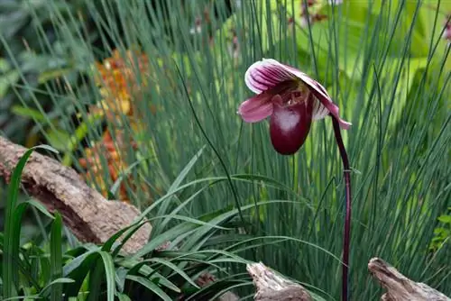
M336 117L332 116L334 124L334 133L336 135L336 144L340 150L341 160L343 161L343 176L345 178L345 196L346 196L346 214L345 214L345 233L343 235L343 271L342 271L342 301L347 301L348 297L348 269L349 269L349 242L351 241L351 169L343 139L341 137L340 125Z

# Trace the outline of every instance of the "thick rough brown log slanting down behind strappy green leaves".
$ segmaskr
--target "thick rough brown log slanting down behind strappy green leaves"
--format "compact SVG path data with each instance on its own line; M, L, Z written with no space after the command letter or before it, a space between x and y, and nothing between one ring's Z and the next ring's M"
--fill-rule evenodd
M15 165L26 150L0 137L0 177L9 182ZM106 200L88 187L74 169L37 152L33 152L23 169L22 184L49 211L58 210L80 242L106 242L141 214L133 205ZM139 250L148 241L151 231L152 226L145 223L124 244L123 251Z

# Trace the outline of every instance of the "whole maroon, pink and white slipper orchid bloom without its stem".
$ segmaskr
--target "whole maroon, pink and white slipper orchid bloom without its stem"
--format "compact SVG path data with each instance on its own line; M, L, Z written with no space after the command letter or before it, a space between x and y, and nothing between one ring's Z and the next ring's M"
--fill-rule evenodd
M244 81L257 96L244 101L238 114L246 123L270 117L272 146L283 155L299 150L312 121L331 114L341 128L348 129L351 125L340 118L338 106L323 86L307 74L275 59L253 63L247 69Z

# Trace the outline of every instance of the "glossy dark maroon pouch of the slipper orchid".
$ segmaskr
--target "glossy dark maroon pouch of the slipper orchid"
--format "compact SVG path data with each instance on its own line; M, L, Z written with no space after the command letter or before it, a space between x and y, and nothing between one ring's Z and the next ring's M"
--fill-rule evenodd
M282 106L274 103L270 121L272 146L282 155L292 155L310 132L313 102Z

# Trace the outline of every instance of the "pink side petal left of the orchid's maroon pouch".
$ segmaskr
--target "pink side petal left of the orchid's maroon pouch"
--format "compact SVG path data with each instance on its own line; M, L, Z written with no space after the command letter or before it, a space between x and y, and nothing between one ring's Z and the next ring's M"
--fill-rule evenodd
M271 96L258 95L247 99L238 107L238 114L246 123L257 123L272 114Z

